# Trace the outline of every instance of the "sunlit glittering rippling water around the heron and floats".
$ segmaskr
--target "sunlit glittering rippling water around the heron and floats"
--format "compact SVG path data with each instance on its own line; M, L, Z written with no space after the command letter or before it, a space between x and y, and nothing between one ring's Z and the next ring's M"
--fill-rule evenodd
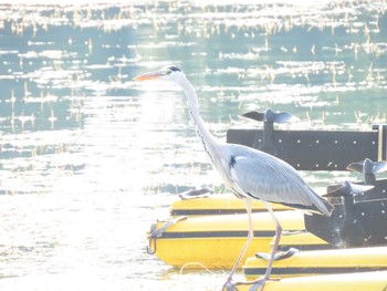
M0 4L0 289L213 290L224 278L145 252L176 193L224 189L180 91L139 73L180 66L219 138L269 106L299 116L292 127L386 122L385 1L212 2Z

